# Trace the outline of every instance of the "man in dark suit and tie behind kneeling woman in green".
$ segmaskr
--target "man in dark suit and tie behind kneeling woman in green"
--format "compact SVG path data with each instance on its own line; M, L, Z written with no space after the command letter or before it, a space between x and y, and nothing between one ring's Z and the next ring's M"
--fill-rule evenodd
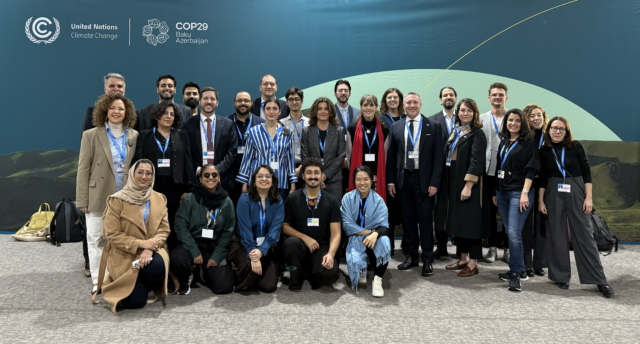
M213 164L220 172L225 190L233 187L233 164L237 155L238 134L233 121L216 116L218 91L204 87L200 97L200 116L191 116L184 125L191 144L193 170L204 164Z

